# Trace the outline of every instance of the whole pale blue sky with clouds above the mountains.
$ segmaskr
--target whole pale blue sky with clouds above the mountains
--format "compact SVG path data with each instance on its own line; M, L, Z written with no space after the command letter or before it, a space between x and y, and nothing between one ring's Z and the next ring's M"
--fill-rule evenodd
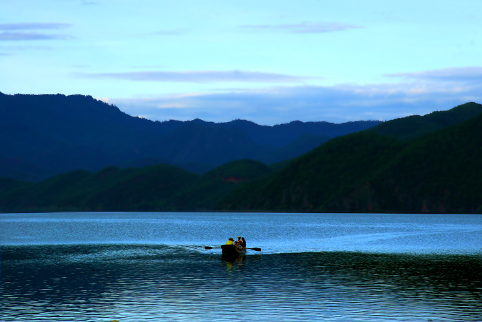
M482 1L0 0L0 92L154 121L449 110L482 103Z

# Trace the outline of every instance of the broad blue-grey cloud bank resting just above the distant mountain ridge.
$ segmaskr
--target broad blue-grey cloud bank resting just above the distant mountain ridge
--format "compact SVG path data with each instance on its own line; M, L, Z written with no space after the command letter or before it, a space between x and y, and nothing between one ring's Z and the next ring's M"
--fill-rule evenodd
M408 83L282 86L240 92L109 100L128 114L159 121L200 118L226 122L247 119L264 125L294 120L334 123L390 120L448 110L468 101L482 103L481 84L457 89L437 84Z

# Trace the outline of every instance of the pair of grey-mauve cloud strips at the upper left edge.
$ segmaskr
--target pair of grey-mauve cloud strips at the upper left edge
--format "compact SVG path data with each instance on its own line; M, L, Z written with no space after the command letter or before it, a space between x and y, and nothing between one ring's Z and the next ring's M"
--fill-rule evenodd
M74 37L67 34L50 34L35 30L59 30L68 23L0 23L0 41L65 40Z

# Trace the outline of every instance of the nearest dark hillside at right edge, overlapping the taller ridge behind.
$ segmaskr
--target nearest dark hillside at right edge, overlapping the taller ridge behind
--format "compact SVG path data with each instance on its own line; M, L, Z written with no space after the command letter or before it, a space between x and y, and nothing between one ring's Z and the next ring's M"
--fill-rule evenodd
M479 115L410 142L371 183L357 190L370 190L376 211L482 213L481 165Z

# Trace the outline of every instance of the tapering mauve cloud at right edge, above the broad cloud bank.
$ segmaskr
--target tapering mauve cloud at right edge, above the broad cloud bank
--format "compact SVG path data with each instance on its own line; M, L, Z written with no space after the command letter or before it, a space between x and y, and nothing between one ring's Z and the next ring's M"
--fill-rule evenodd
M482 67L443 68L439 70L426 70L423 72L388 74L386 76L415 80L482 83Z

